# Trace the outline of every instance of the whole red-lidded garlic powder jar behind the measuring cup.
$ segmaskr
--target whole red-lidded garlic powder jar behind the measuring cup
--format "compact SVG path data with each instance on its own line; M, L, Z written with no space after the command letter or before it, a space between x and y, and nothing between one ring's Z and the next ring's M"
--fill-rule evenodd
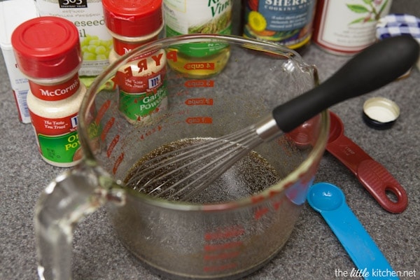
M103 0L106 27L113 36L110 62L158 38L163 29L162 0ZM144 122L167 106L165 50L137 57L116 72L119 110L130 123Z

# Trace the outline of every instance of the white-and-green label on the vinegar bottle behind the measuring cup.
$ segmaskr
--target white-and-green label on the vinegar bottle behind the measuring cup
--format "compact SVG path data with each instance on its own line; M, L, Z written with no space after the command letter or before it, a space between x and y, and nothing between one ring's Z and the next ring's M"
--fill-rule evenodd
M166 36L182 34L231 34L232 0L165 0ZM192 57L218 53L227 45L219 43L190 43L177 46Z

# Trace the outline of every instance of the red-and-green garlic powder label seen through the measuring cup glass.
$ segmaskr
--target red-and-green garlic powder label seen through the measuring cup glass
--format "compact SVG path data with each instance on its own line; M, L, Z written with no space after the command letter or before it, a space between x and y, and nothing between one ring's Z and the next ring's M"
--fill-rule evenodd
M160 50L118 69L119 110L130 122L142 121L162 108L167 97L166 62L165 51Z

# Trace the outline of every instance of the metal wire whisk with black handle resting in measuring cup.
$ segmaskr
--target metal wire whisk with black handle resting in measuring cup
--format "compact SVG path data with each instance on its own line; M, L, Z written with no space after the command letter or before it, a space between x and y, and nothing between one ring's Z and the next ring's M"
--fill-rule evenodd
M167 200L188 201L264 141L290 132L328 107L391 83L419 57L419 43L398 36L374 43L324 83L285 104L258 123L218 139L197 139L141 163L127 186Z

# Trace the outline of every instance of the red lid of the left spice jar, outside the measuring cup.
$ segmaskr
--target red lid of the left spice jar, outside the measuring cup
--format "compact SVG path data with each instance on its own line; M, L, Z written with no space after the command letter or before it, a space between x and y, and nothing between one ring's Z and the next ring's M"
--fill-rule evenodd
M69 20L40 17L27 20L12 34L16 62L29 78L57 78L82 62L78 30Z

